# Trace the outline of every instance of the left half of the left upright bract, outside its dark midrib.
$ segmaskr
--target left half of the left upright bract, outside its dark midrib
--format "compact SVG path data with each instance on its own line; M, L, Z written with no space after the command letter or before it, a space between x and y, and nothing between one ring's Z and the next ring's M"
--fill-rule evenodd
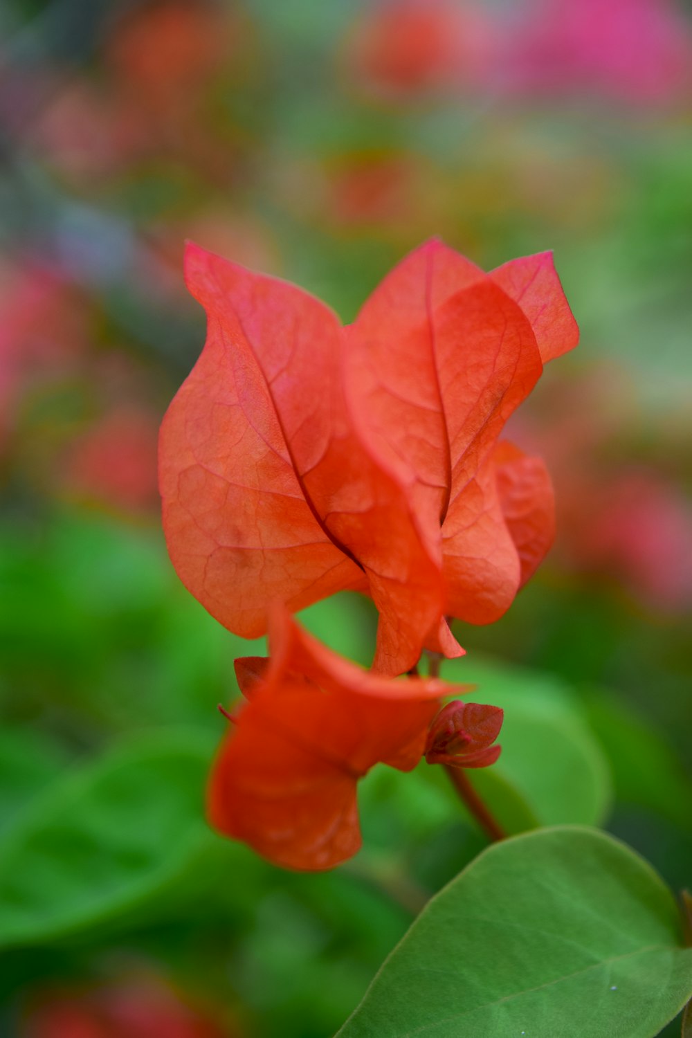
M269 601L301 609L359 586L362 572L305 498L215 261L189 247L188 280L207 309L207 336L161 428L163 522L186 586L224 626L256 637Z

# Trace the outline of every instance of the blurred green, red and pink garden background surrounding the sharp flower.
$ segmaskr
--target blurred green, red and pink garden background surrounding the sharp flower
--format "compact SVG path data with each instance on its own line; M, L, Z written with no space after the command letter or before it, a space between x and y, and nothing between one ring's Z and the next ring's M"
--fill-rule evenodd
M555 250L582 343L511 435L557 543L443 674L507 707L489 781L526 825L602 821L692 883L690 6L5 0L0 38L0 1033L325 1038L483 845L425 765L376 769L330 874L205 828L257 650L159 525L204 335L186 238L344 321L431 235L487 268ZM366 603L304 619L368 662Z

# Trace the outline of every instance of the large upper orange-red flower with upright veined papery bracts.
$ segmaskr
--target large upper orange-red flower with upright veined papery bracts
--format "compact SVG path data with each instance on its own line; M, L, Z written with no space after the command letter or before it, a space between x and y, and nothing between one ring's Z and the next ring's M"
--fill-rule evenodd
M376 668L403 673L423 647L459 655L444 617L498 619L552 542L545 467L497 442L543 362L577 342L551 255L485 274L428 242L347 328L194 245L187 277L206 345L160 454L185 584L245 637L275 600L365 591Z

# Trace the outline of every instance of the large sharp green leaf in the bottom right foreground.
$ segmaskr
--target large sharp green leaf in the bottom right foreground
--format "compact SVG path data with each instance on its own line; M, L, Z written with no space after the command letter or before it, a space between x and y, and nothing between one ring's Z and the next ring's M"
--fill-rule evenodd
M435 897L340 1038L653 1038L692 994L670 891L581 826L494 844Z

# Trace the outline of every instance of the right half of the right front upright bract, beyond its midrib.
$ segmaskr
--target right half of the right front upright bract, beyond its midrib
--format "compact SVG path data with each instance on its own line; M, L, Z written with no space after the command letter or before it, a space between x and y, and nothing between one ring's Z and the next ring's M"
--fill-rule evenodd
M542 364L526 318L488 280L444 305L437 342L452 463L442 527L446 610L469 623L488 624L511 604L521 577L492 452Z

